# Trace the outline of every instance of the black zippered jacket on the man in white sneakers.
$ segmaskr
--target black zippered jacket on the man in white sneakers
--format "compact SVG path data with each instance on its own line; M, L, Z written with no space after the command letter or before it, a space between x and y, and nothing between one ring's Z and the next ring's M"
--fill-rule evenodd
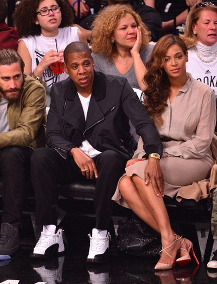
M162 155L157 129L125 78L94 72L87 121L75 84L68 78L51 88L46 144L65 159L85 139L100 152L115 150L129 157L133 145L129 119L144 141L145 157Z

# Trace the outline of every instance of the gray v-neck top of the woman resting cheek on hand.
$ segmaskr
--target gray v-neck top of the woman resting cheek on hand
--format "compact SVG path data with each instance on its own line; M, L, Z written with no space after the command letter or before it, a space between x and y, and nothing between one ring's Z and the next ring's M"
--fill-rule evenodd
M143 63L146 63L149 60L153 48L154 48L154 45L149 43L148 45L146 45L146 47L143 50L140 51L140 56L141 56ZM136 77L135 77L133 64L128 70L128 72L126 72L123 75L117 70L113 60L110 64L107 58L99 53L92 53L92 57L95 63L95 67L94 67L95 71L99 71L104 74L124 77L128 80L132 88L137 88L137 89L140 88L136 80Z

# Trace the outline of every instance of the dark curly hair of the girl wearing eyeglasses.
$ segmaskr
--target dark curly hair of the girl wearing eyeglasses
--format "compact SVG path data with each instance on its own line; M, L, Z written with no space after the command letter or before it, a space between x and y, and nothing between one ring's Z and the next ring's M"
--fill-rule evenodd
M16 27L19 36L27 38L29 36L40 36L41 27L36 25L36 12L39 4L43 0L22 0L17 6L13 17L16 20ZM74 22L73 11L65 0L56 0L61 7L62 21L59 28L71 26Z

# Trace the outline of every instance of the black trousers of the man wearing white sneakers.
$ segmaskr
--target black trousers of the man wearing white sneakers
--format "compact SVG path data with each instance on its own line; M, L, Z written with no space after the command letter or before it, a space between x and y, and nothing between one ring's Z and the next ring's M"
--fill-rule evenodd
M112 213L111 198L127 162L127 155L107 150L93 158L98 170L95 188L96 228L107 230ZM84 180L74 162L64 160L52 148L37 149L32 156L32 183L36 191L36 225L56 225L57 184Z

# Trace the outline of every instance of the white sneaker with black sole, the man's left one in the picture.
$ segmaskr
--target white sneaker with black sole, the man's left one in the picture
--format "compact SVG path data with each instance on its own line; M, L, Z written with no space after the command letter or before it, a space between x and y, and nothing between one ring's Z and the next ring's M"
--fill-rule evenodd
M33 254L33 258L50 258L57 253L61 253L65 250L63 243L62 230L58 230L57 233L56 226L49 225L43 226L43 231L41 237L36 244Z

